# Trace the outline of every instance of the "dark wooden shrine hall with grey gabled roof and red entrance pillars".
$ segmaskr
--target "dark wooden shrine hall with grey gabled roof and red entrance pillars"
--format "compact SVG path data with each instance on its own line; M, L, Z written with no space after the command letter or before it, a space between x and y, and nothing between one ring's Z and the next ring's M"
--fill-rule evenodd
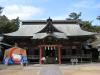
M16 32L4 35L4 41L27 50L29 62L61 64L77 58L92 59L87 41L95 33L84 31L77 20L21 20Z

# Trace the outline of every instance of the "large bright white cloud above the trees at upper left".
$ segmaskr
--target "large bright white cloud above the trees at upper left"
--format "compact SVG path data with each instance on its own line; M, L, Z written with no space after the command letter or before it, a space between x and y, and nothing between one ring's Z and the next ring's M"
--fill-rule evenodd
M20 19L28 19L34 15L42 14L43 10L34 6L25 5L9 5L4 8L3 14L9 19L19 17Z

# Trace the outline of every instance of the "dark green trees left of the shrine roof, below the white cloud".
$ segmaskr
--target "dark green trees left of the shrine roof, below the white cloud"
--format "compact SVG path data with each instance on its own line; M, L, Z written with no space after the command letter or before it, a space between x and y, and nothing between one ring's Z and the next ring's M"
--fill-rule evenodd
M5 15L0 16L0 33L10 33L17 29L16 19L9 20Z

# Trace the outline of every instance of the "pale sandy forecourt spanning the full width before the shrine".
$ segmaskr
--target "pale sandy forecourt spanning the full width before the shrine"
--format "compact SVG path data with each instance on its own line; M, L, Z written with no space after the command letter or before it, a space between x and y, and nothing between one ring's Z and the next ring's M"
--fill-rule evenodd
M46 67L49 67L48 70ZM44 70L43 70L44 69ZM49 72L50 70L60 70L63 75L100 75L100 63L94 64L81 64L81 65L28 65L22 67L19 65L5 66L0 65L0 75L41 75L41 71ZM47 71L46 71L47 70ZM53 73L52 73L53 74ZM52 75L51 74L51 75ZM43 75L43 74L42 74Z

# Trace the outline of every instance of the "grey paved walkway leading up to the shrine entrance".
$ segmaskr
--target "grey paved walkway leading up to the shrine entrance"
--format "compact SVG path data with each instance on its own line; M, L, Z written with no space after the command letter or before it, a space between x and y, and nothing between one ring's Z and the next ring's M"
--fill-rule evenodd
M39 75L62 75L62 73L59 69L59 66L57 66L57 65L47 65L47 66L44 66L40 70Z

